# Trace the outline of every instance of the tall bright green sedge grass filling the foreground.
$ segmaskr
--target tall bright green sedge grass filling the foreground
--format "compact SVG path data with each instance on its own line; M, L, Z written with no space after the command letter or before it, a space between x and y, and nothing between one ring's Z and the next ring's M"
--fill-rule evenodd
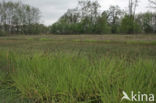
M123 90L156 93L154 59L14 52L0 55L0 67L5 103L119 103Z

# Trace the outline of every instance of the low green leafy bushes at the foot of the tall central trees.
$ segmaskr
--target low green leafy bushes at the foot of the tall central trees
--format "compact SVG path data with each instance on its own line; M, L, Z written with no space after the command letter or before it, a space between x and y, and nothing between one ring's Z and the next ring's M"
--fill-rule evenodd
M50 26L50 32L56 34L106 34L110 33L110 29L106 16L97 17L95 23L85 17L78 23L68 23L61 19Z

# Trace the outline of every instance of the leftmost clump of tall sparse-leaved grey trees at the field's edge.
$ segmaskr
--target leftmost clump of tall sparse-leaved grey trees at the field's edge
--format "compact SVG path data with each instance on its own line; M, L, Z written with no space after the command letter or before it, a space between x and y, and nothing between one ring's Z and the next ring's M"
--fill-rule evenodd
M40 11L20 2L0 2L0 34L38 34Z

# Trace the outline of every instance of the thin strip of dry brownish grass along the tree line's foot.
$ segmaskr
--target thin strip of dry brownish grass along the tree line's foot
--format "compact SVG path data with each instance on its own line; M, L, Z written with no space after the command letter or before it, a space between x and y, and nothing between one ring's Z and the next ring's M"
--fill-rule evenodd
M0 40L24 40L24 39L41 39L47 38L50 40L112 40L112 41L154 41L156 40L156 35L13 35L0 37Z

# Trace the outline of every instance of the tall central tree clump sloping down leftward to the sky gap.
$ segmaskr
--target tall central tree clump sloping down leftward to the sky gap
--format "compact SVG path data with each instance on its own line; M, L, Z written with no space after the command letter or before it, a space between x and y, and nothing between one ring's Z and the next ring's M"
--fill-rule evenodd
M51 32L94 33L98 19L101 19L98 13L99 7L97 1L79 1L76 8L68 9L58 22L51 26Z

